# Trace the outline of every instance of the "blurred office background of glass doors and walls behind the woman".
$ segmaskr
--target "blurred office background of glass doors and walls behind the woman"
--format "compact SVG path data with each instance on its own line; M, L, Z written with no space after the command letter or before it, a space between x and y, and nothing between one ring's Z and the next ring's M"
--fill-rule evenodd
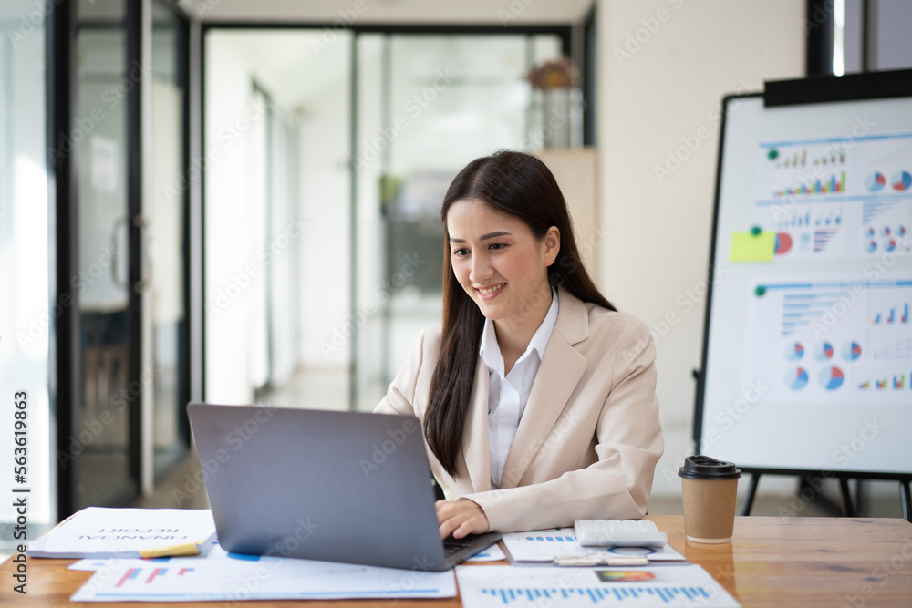
M441 195L496 149L553 168L596 282L655 332L654 512L675 510L705 305L678 301L707 279L720 99L912 67L910 16L900 0L7 0L0 378L28 394L30 521L198 504L173 491L193 474L190 400L374 407L440 316ZM561 57L574 87L534 88ZM886 485L870 504L898 511ZM793 504L791 479L762 490Z

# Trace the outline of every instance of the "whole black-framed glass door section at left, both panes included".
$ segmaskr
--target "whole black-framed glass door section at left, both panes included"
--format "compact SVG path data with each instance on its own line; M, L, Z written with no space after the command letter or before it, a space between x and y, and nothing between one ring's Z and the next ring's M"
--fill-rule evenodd
M61 391L61 515L149 491L189 435L186 20L159 0L79 0L72 18L57 156L77 227L61 245L77 302L61 365L78 380Z

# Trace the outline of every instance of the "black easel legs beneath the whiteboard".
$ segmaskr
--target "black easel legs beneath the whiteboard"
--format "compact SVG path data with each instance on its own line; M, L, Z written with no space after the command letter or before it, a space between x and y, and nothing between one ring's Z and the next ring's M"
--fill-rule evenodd
M849 491L849 479L857 479L859 482L868 479L893 480L899 482L899 499L903 505L903 518L912 522L912 492L909 491L909 483L912 482L912 475L901 475L893 473L834 473L833 471L819 470L781 470L781 469L751 469L741 467L742 473L751 475L751 482L747 489L747 495L744 497L744 503L741 505L741 515L750 515L753 508L753 500L757 496L757 488L760 486L762 475L791 475L801 479L799 497L803 500L804 490L808 489L810 497L808 500L815 500L821 492L823 483L826 479L839 480L839 498L840 510L843 517L855 517L855 506L852 502L852 495ZM857 492L856 492L857 493Z

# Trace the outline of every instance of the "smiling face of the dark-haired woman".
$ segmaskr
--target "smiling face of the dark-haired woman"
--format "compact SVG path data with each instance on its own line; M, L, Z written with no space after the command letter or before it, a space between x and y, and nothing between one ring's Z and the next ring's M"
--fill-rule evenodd
M493 321L540 324L551 306L548 266L560 250L552 226L538 239L519 218L472 199L447 212L453 273Z

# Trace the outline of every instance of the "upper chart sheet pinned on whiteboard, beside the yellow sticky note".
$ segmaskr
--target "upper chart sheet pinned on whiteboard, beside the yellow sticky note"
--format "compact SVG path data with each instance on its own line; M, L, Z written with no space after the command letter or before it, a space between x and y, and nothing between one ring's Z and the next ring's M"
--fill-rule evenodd
M912 133L761 142L753 226L772 262L878 260L912 252Z

